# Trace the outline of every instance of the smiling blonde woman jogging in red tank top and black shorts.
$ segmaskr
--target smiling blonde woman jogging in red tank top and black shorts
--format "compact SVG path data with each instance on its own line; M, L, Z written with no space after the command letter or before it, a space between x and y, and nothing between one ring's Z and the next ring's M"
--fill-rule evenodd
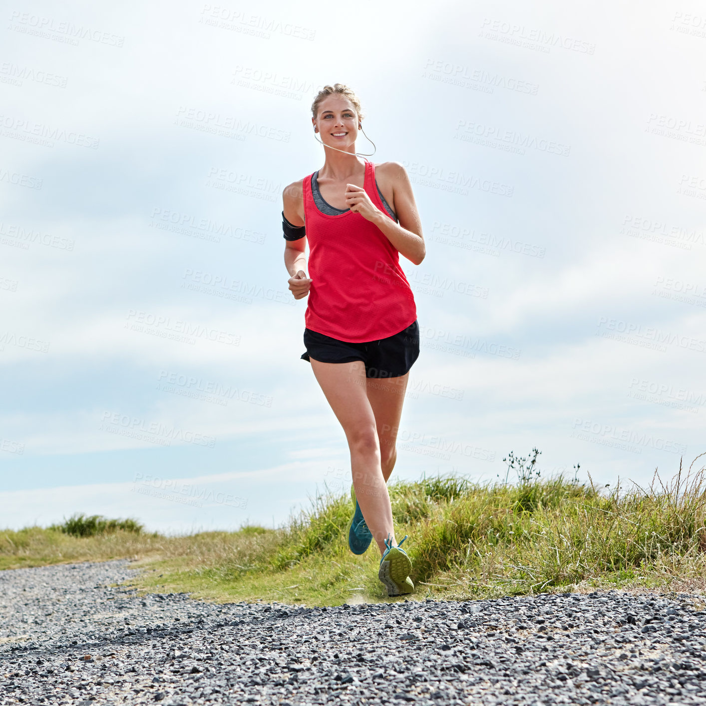
M417 308L399 253L415 265L424 260L421 220L401 164L359 160L363 114L352 89L325 86L311 112L323 167L282 193L289 289L294 299L309 295L301 358L348 441L355 505L349 547L363 554L375 539L378 577L398 596L414 590L412 562L395 541L386 483L409 369L419 356Z

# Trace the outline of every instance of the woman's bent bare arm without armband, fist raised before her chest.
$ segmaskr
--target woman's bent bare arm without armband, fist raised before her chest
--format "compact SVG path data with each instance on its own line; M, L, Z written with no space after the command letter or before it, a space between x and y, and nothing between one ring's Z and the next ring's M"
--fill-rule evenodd
M402 164L388 162L385 164L385 170L393 183L393 208L399 223L395 223L387 213L377 208L366 191L355 184L346 185L348 207L354 213L360 213L366 220L373 222L401 255L415 265L419 265L426 255L426 246L421 234L421 218L417 212L417 204L414 202L412 184Z

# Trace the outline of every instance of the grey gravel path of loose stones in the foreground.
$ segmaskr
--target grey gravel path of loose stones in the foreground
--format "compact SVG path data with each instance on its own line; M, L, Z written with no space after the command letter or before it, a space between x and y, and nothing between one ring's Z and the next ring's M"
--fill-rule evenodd
M0 704L706 704L696 597L304 609L107 587L133 575L1 571Z

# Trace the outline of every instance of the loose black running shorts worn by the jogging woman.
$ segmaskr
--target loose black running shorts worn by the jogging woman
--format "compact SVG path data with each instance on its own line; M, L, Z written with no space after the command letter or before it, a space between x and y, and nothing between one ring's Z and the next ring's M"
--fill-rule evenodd
M400 333L366 343L348 343L305 328L304 345L302 360L310 357L321 363L361 360L366 378L398 378L409 372L419 357L419 324L414 321Z

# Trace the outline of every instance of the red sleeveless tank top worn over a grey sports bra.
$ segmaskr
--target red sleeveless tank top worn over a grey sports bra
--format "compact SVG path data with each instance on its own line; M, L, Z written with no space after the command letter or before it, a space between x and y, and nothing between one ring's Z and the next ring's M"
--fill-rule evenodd
M359 213L322 213L304 179L304 225L309 242L306 328L350 343L393 336L417 318L417 306L400 253L376 225ZM364 189L392 219L378 196L375 165L366 160Z

